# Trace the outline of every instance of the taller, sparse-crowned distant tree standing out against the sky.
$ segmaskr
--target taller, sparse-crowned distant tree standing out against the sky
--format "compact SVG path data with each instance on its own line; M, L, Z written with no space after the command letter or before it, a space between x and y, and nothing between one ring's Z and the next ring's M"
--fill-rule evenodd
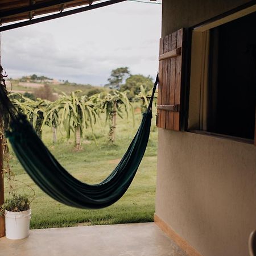
M108 79L109 84L106 84L105 86L109 87L110 89L119 90L120 86L122 85L123 79L125 79L125 77L129 75L130 71L128 67L113 69Z

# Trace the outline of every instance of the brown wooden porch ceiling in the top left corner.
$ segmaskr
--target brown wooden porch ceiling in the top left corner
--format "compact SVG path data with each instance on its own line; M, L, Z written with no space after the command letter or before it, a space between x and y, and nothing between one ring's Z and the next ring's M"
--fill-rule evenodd
M36 15L61 12L76 6L92 5L98 0L0 0L0 24L32 19Z

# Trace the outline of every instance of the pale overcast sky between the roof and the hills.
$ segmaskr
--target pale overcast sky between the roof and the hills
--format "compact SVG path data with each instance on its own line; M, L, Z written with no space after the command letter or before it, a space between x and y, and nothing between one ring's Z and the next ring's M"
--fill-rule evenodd
M2 32L2 65L9 77L35 73L93 85L106 84L118 67L155 77L161 8L126 1Z

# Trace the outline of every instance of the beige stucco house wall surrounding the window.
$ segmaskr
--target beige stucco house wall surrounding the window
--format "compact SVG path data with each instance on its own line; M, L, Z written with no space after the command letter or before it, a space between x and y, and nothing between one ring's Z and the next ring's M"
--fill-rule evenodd
M162 35L245 2L163 1ZM248 255L256 229L256 147L164 129L158 143L156 214L204 256Z

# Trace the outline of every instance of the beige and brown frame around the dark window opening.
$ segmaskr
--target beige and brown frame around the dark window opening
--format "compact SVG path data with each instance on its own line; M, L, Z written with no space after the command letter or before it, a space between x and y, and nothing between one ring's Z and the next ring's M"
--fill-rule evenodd
M221 26L232 20L242 18L243 16L256 13L256 4L246 5L234 9L228 13L217 16L201 23L197 26L189 28L190 30L190 51L189 51L189 92L188 92L188 113L187 113L187 131L212 137L231 139L256 146L256 117L255 117L255 133L254 140L240 137L233 137L225 134L217 134L205 131L206 109L207 109L207 84L209 69L209 45L210 45L210 29Z

